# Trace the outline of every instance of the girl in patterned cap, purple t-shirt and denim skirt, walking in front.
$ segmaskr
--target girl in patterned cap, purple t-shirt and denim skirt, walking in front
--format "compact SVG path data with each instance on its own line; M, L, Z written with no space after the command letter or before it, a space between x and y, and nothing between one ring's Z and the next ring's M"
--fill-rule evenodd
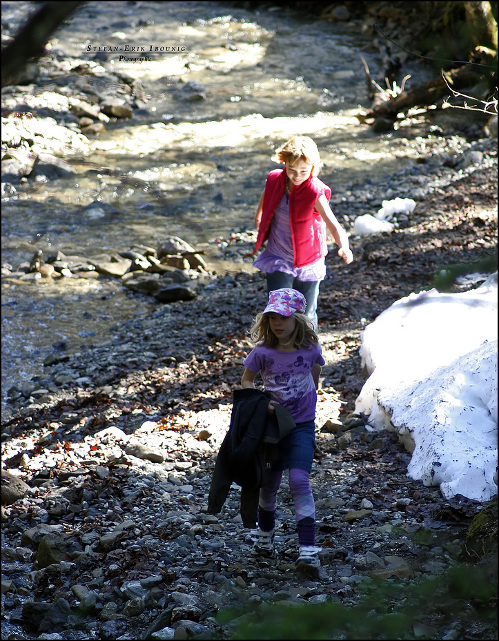
M271 291L268 305L250 330L256 346L244 359L242 388L254 388L257 374L271 393L268 413L280 403L296 426L279 443L279 459L271 480L260 489L258 527L252 531L253 553L273 554L275 505L285 469L295 502L300 555L297 569L318 572L320 548L315 546L315 503L309 482L315 448L315 405L324 358L311 320L305 315L306 299L291 288Z

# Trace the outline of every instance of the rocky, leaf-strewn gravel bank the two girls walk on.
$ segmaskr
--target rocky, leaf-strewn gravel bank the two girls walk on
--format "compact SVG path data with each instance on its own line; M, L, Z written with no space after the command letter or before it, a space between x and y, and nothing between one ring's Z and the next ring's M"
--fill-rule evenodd
M77 117L79 128L90 126L84 118L92 113ZM18 128L35 126L18 120ZM497 638L496 540L487 535L496 505L447 501L438 487L411 480L410 455L395 433L373 432L354 413L364 382L362 328L411 292L436 284L462 290L476 280L460 277L495 268L497 141L482 120L453 120L439 129L434 153L421 143L413 166L336 194L345 224L386 197L411 195L417 204L392 233L352 236L351 266L333 250L328 259L311 475L318 576L295 571L286 480L272 560L251 556L237 486L221 514L206 511L251 348L247 329L266 299L264 279L245 258L253 232L236 230L207 247L211 259L231 264L224 275L208 262L194 277L185 255L167 269L156 246L141 255L116 247L110 261L72 270L79 282L112 279L150 305L77 352L53 344L42 375L10 388L2 423L3 638ZM452 127L466 144L451 145ZM41 157L35 174L53 183L68 167L52 161ZM52 266L48 275L10 266L3 283L36 277L57 286L60 270L71 269L63 260ZM175 273L188 295L155 297L164 272Z

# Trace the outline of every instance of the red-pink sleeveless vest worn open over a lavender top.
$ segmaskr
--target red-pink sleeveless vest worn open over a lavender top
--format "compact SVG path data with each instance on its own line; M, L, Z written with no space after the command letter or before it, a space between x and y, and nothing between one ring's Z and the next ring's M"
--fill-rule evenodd
M272 170L266 180L262 220L258 229L256 253L271 233L271 222L286 186L286 169ZM301 185L291 187L289 217L295 267L310 265L327 254L327 227L315 210L315 203L324 193L329 202L331 189L317 177L309 177Z

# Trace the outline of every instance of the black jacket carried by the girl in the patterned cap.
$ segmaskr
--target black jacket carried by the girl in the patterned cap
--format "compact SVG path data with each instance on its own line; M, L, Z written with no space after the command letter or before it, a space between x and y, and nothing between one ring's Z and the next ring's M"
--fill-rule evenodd
M295 427L291 414L280 404L267 413L271 395L257 389L233 393L231 425L220 446L208 496L208 512L222 510L231 484L241 486L241 517L245 527L257 522L260 487L268 482L277 458L277 443Z

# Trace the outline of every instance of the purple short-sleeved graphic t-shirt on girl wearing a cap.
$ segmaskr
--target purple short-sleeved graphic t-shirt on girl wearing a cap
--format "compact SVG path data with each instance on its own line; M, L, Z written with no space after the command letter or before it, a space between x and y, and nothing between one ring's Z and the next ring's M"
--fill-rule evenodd
M243 361L248 370L260 372L265 391L284 405L297 423L315 418L317 391L312 367L324 363L320 345L302 347L294 352L257 345Z

